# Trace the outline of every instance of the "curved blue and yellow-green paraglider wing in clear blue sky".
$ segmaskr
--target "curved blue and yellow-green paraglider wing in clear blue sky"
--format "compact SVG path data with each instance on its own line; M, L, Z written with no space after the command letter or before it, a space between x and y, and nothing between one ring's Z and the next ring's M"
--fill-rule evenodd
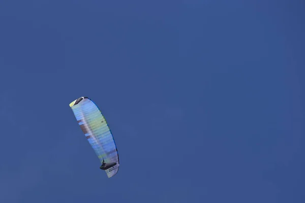
M111 178L119 167L117 148L111 130L97 105L88 97L80 97L70 104L76 120L92 146L104 170Z

